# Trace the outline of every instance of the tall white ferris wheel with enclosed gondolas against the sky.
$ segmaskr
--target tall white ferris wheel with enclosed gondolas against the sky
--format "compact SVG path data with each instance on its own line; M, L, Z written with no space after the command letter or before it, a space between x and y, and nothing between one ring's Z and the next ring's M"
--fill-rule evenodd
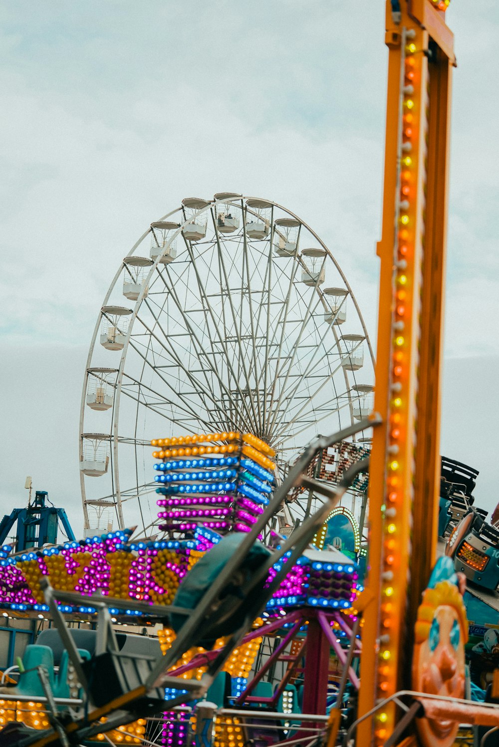
M374 357L335 255L267 199L186 198L128 251L96 321L81 397L87 533L153 533L151 438L245 430L285 468L371 409Z

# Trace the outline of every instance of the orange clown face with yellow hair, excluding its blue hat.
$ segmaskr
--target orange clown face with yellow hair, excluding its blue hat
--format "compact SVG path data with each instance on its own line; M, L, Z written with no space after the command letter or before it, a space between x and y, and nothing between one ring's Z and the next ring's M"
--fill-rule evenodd
M463 698L465 694L465 650L462 623L448 604L436 607L427 639L415 645L412 662L413 687L429 695ZM421 719L418 731L427 747L452 745L458 729L454 721Z

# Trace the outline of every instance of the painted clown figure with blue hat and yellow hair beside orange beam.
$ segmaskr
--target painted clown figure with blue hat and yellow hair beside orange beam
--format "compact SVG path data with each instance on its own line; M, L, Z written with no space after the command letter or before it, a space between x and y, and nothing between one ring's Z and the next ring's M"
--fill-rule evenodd
M468 621L461 593L464 584L450 568L449 560L439 560L418 609L412 686L429 695L463 698ZM439 580L445 571L447 579ZM418 733L425 747L453 745L458 728L459 724L450 720L418 719Z

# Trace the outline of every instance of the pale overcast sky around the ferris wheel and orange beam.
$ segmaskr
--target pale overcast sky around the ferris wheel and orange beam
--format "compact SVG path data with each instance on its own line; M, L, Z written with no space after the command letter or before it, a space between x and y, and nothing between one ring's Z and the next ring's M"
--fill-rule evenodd
M456 37L441 450L498 501L494 0ZM376 329L383 0L4 0L0 514L26 474L81 531L78 415L102 298L185 196L266 196L335 253Z

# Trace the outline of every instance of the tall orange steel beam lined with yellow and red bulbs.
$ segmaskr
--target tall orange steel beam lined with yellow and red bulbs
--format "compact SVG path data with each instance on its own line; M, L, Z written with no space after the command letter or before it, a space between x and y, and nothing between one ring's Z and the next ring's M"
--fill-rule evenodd
M386 2L388 98L368 588L359 716L409 684L415 610L435 560L447 217L450 68L447 0ZM394 13L394 10L397 13ZM385 742L394 705L359 725Z

